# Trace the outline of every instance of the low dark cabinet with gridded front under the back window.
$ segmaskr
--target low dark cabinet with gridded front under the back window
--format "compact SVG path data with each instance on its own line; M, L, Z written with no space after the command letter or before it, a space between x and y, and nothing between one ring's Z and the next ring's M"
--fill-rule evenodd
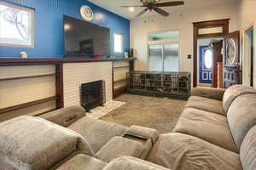
M132 94L188 99L191 89L189 72L131 71L127 73L127 90Z

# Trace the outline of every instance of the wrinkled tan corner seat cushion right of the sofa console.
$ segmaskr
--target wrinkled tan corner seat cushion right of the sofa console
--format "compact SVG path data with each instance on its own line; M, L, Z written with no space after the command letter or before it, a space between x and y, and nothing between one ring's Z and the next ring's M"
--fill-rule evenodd
M161 134L147 160L172 170L241 170L235 152L182 133Z

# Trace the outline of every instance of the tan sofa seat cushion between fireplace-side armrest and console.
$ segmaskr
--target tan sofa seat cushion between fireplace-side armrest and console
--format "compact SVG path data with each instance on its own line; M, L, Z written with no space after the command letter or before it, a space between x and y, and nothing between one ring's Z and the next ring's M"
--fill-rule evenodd
M80 133L88 141L94 153L100 150L104 144L107 144L110 139L115 136L122 136L127 130L127 127L89 116L79 119L67 128Z

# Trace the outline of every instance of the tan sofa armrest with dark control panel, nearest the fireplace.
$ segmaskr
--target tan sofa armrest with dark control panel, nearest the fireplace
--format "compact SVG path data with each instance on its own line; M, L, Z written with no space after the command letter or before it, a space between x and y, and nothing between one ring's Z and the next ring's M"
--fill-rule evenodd
M84 108L79 105L62 108L57 111L51 111L41 115L41 118L46 119L49 122L54 122L62 127L68 127L73 122L78 121L80 118L85 116L86 113Z

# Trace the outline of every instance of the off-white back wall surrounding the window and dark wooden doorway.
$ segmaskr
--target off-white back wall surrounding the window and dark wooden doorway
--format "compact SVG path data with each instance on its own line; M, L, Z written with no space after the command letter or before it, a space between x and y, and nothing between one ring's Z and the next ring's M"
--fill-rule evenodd
M144 23L147 18L131 20L131 48L137 50L136 70L148 70L147 35L151 31L181 31L181 59L180 71L193 72L193 59L187 59L193 54L193 24L192 22L205 20L221 20L230 18L230 31L239 30L238 3L221 4L214 7L194 8L174 13L168 17L159 14L153 17L154 22ZM180 16L182 14L182 16Z

